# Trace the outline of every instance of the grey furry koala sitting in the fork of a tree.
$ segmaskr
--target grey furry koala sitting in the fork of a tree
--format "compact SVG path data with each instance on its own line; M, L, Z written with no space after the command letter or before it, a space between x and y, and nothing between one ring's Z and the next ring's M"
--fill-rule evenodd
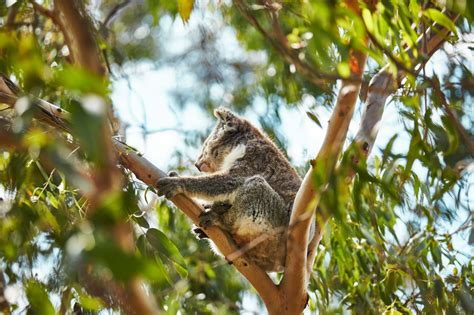
M200 217L198 235L218 226L267 272L283 271L286 231L301 178L263 132L226 108L215 110L217 124L195 163L202 176L158 180L158 194L186 194L212 205ZM173 174L176 175L176 174Z

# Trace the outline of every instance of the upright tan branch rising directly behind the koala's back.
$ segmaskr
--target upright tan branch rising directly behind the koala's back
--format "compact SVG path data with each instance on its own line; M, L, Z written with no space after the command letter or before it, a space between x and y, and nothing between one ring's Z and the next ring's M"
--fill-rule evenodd
M357 2L347 1L347 5L351 10L359 13ZM363 40L365 44L368 44L367 38ZM293 228L288 231L285 274L280 284L280 290L285 297L285 314L299 314L306 306L308 298L306 287L309 278L307 271L310 270L307 256L310 226L321 194L329 183L346 140L367 56L367 52L350 51L351 80L342 81L323 145L316 159L312 161L293 204L290 218L290 226ZM320 237L321 230L316 231L313 240ZM315 243L311 241L312 245ZM313 252L314 248L309 254L312 255Z

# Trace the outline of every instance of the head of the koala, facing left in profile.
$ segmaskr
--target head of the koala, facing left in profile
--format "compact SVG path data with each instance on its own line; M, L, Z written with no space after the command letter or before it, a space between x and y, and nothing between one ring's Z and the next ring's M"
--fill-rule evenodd
M251 130L249 122L219 107L214 111L217 124L204 141L201 153L194 165L206 173L217 172L221 169L225 157L239 144L245 143Z

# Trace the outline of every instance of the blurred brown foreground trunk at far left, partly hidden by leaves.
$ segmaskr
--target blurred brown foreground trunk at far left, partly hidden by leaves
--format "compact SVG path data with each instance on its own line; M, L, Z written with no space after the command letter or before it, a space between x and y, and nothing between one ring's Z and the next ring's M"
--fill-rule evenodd
M84 4L76 0L55 0L54 10L48 10L30 1L41 14L51 18L51 20L61 29L66 44L71 52L72 61L79 67L105 79L106 68L100 56L100 49L94 37L94 30L91 26L89 16L85 12ZM3 85L0 88L9 87L8 81L2 78ZM3 89L1 95L3 99L12 101L12 92L10 89ZM13 95L15 96L15 95ZM58 127L62 126L67 130L67 124L64 123L63 111L47 102L38 100L34 102L38 105L39 116L44 118L46 122ZM104 104L105 105L105 104ZM107 107L108 117L111 106ZM116 156L111 141L111 129L108 122L104 119L101 133L98 135L98 141L101 142L104 150L104 157L101 163L97 163L94 171L91 172L93 187L86 197L89 202L88 215L91 215L111 192L121 189L121 174L115 167ZM133 251L135 249L133 229L129 222L119 222L110 229L115 242L125 251ZM87 272L87 271L86 271ZM117 294L118 302L123 310L129 314L156 314L158 312L153 300L147 297L142 282L138 279L131 279L125 286L113 284L113 288L107 288L112 294ZM125 300L124 300L125 299Z

